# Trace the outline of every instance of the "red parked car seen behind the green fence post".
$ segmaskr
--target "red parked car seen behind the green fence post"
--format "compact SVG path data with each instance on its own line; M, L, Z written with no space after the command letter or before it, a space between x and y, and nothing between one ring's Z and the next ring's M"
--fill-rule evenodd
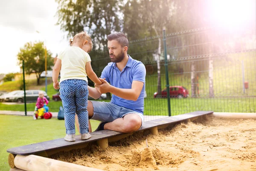
M187 98L189 97L189 90L183 86L170 86L170 97L173 98ZM167 89L162 90L162 95L158 95L157 92L154 93L154 98L167 98Z

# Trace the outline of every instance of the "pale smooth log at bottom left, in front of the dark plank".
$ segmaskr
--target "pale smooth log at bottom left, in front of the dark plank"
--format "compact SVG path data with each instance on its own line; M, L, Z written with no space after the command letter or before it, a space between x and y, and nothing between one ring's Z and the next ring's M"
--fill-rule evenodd
M25 171L102 171L97 168L90 168L36 155L17 155L14 163L17 168Z

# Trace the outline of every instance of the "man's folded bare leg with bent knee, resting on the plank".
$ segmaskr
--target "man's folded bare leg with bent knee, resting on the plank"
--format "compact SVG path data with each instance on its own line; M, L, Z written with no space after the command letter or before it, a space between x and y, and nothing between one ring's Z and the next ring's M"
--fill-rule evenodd
M117 132L129 133L140 129L141 118L137 114L127 114L124 118L118 118L113 122L106 123L104 129L110 129Z

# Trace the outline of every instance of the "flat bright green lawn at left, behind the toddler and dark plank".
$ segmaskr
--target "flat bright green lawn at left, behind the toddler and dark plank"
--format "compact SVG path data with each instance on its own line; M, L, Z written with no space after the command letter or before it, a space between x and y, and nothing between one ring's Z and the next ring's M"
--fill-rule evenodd
M91 120L92 130L99 121ZM78 135L78 131L76 130ZM65 136L64 120L32 120L29 116L0 115L0 171L9 171L7 149Z

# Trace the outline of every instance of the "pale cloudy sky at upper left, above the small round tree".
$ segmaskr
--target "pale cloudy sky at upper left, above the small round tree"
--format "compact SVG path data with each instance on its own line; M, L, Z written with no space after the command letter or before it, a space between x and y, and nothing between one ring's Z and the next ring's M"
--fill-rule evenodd
M26 42L44 41L52 57L68 46L57 7L55 0L0 0L0 73L20 72L17 54Z

